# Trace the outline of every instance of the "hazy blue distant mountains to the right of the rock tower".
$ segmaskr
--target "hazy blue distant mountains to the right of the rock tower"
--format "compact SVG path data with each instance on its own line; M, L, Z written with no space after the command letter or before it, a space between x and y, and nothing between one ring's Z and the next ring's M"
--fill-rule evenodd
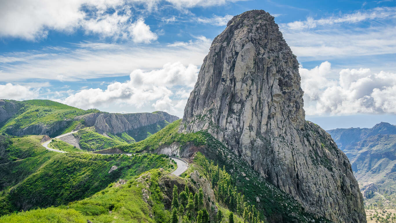
M396 206L396 126L381 122L327 133L348 156L366 206Z

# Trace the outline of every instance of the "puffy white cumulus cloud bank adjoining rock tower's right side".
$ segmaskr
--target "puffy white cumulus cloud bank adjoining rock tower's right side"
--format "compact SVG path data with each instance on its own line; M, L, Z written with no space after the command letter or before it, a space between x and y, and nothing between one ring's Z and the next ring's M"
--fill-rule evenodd
M307 115L396 113L396 73L342 69L331 80L334 71L327 61L299 71Z

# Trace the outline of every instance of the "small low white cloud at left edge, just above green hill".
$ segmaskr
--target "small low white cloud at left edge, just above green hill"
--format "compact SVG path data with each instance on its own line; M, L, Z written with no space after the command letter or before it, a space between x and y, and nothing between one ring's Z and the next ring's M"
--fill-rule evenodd
M34 99L38 97L39 90L40 88L7 83L5 85L0 85L0 98L13 100Z

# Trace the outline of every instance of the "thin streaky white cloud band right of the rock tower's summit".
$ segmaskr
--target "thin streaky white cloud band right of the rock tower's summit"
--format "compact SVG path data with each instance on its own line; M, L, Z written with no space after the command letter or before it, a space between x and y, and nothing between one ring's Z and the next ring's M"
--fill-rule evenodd
M280 24L300 61L396 53L396 7Z

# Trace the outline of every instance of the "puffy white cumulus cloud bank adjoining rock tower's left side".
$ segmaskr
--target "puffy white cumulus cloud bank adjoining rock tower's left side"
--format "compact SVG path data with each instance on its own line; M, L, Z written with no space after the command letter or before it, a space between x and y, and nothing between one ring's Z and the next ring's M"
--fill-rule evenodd
M194 87L198 77L196 65L184 66L180 62L166 63L162 69L143 71L136 69L129 75L129 80L114 82L105 90L100 88L82 89L71 94L61 102L78 108L117 106L150 107L152 110L180 115L186 103L186 94Z

